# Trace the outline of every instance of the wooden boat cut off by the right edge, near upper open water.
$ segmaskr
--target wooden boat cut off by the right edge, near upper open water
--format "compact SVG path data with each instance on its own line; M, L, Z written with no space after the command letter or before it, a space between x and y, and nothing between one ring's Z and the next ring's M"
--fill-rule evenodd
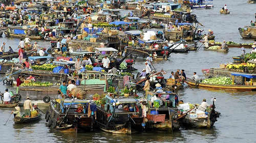
M238 31L243 38L256 38L256 26L255 23L251 23L251 26L239 27Z

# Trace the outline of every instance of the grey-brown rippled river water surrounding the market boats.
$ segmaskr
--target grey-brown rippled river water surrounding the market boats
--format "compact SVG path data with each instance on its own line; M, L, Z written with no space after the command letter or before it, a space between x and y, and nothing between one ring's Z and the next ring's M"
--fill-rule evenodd
M209 10L193 10L199 21L205 26L201 30L214 31L216 41L234 41L237 43L252 43L253 40L243 40L238 32L239 27L249 25L254 20L256 4L247 4L247 1L215 0L214 8ZM230 11L229 15L220 15L219 11L224 5ZM0 43L6 42L7 46L15 49L19 39L0 38ZM49 47L47 41L37 41L39 46ZM246 52L249 52L246 49ZM219 67L220 64L232 62L233 55L240 55L239 48L229 48L228 53L204 51L189 51L188 53L172 53L167 61L154 61L158 70L164 69L168 73L176 71L177 68L184 69L188 77L193 72L198 72L203 77L202 69ZM143 60L137 59L135 68L139 71L144 68ZM4 75L1 75L1 78ZM5 85L0 83L0 92L4 92ZM15 91L15 89L13 89ZM44 117L33 124L16 125L12 118L6 125L2 125L8 119L12 109L0 108L0 142L255 142L255 105L256 92L234 92L201 88L186 87L178 92L179 99L184 102L201 103L205 98L210 101L216 97L216 109L221 112L221 117L215 123L214 128L207 129L184 129L174 133L165 132L142 132L129 135L113 135L98 130L89 132L60 133L46 126ZM209 102L208 102L209 103ZM46 111L48 106L41 106Z

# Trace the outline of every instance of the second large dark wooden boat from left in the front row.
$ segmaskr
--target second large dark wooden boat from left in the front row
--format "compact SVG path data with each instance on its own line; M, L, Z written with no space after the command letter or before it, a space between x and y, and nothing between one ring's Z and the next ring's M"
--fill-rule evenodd
M106 104L97 106L95 122L101 130L115 134L132 134L142 130L143 117L139 117L137 100L135 98L112 98L105 96ZM118 101L122 107L128 106L127 109L120 108L116 105ZM118 106L118 107L117 107ZM110 113L108 111L110 110Z

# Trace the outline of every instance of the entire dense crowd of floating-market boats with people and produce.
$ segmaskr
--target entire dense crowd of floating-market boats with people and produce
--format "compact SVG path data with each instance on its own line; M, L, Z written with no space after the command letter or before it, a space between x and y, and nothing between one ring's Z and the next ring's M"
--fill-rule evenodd
M1 6L0 35L19 39L17 49L6 42L0 47L0 72L5 74L0 81L17 87L0 94L0 107L16 109L11 112L15 124L44 115L47 126L59 131L210 129L221 115L215 110L217 99L190 104L180 100L180 89L256 90L256 40L220 43L213 31L200 29L203 23L191 9L210 9L212 1L6 1ZM224 5L220 13L230 12ZM255 38L255 30L251 21L239 33ZM49 46L38 45L40 40ZM153 65L172 53L201 47L217 52L241 48L241 54L232 57L233 63L202 69L204 79L197 72L187 77L184 69L165 71ZM245 48L252 50L246 53ZM137 59L144 62L141 71L134 67ZM38 103L49 109L41 111Z

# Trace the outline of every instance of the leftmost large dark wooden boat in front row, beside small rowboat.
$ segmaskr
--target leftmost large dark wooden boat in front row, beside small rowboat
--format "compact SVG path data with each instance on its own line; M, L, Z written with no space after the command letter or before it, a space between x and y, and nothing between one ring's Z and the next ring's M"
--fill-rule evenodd
M88 115L87 100L65 99L60 103L51 101L49 110L46 111L46 122L48 127L60 129L61 131L77 132L78 130L90 131L93 126L93 116ZM78 112L78 106L82 111Z

